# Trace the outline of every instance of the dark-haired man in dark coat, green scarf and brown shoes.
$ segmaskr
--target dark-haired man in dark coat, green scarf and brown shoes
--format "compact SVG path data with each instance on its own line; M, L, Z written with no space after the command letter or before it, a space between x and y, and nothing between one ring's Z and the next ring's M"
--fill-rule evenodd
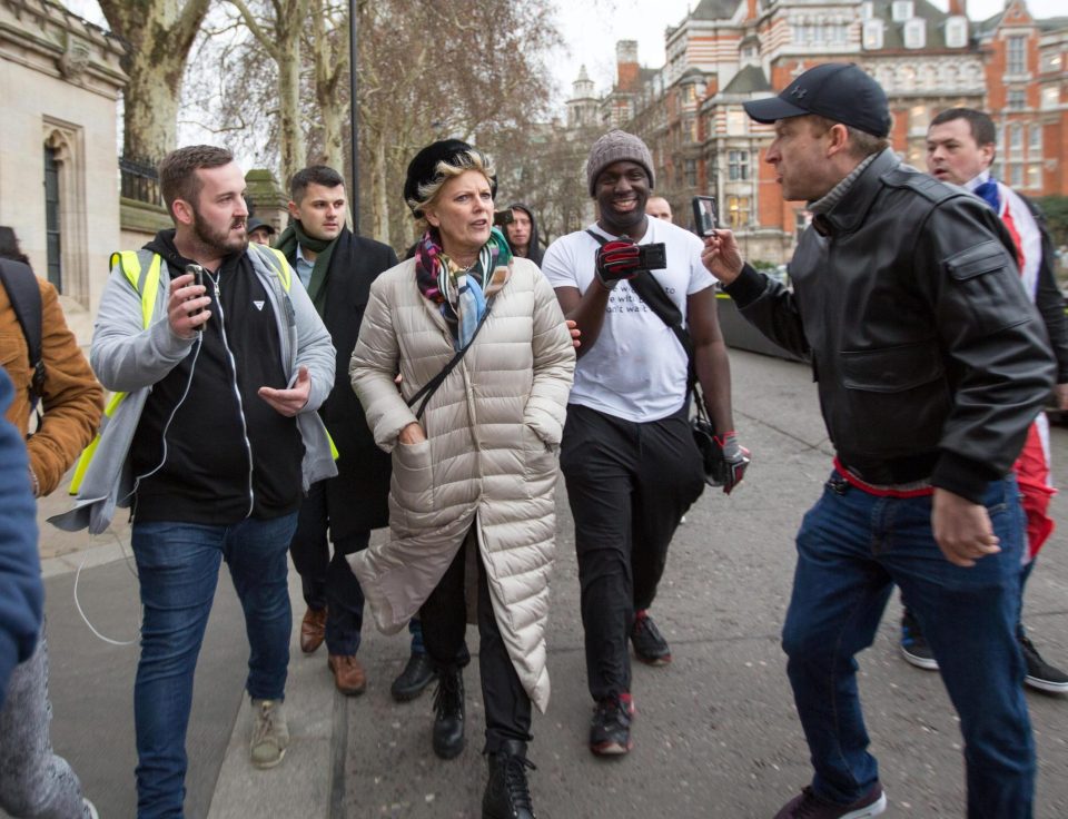
M338 451L338 474L312 486L289 546L308 604L300 648L312 653L325 639L337 689L354 695L366 688L356 659L364 595L345 555L365 549L370 530L389 521L389 456L367 428L348 381L348 359L370 283L396 265L397 257L387 245L356 236L345 226L345 180L333 168L314 165L298 171L289 182L289 196L293 220L277 247L296 269L337 348L334 391L319 413ZM334 543L333 559L328 539ZM413 665L415 688L412 680L399 681L398 699L418 694L432 679L425 654L414 654Z

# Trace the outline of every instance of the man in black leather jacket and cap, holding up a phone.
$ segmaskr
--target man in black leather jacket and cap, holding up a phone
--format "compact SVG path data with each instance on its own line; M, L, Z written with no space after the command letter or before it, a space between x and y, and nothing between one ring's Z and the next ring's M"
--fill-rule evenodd
M798 534L783 649L815 768L777 819L881 813L853 659L893 583L923 622L967 751L968 817L1032 816L1035 750L1016 640L1022 514L1011 474L1054 383L1011 238L986 205L899 162L887 98L825 63L745 103L812 227L794 292L743 265L729 230L704 262L742 314L812 362L837 457Z

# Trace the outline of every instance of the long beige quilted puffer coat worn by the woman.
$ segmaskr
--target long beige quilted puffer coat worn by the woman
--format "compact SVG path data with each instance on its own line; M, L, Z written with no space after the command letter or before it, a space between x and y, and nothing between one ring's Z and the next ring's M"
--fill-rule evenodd
M575 353L532 262L513 260L474 344L427 404L427 441L399 444L416 420L405 399L454 353L445 319L418 290L414 260L375 279L348 372L375 441L393 453L390 536L348 561L378 629L393 633L418 612L474 526L501 635L544 711L557 452Z

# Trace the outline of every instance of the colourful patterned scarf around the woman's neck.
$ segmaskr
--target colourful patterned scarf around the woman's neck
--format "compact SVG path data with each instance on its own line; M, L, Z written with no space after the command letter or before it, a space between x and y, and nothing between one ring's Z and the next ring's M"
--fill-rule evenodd
M434 304L453 332L456 349L474 337L486 314L487 303L504 287L512 275L512 250L497 228L482 246L478 258L468 269L461 268L442 249L441 236L431 228L415 250L415 280L419 293Z

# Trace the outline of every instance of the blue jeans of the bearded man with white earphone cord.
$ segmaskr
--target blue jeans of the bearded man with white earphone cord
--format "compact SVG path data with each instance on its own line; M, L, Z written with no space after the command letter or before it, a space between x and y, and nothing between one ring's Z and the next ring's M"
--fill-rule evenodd
M245 611L246 689L254 699L284 698L293 625L286 553L296 525L295 512L233 526L135 522L144 618L134 685L138 817L182 815L192 677L222 560Z

